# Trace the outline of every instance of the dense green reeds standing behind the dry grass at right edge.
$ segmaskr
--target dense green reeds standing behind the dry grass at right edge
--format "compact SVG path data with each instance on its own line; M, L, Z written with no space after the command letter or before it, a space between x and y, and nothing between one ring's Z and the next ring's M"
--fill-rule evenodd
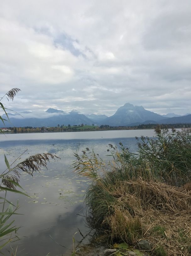
M177 131L156 127L155 138L141 137L139 159L149 164L154 176L172 186L191 181L191 129Z

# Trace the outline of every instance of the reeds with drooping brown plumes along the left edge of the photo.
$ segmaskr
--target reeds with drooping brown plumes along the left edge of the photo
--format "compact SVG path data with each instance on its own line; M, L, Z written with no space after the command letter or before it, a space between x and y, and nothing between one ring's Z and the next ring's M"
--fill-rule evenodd
M0 98L0 108L7 116L7 119L0 116L0 120L3 124L5 124L4 121L8 121L9 118L7 114L8 109L4 107L1 100L4 97L6 97L8 100L13 100L15 95L19 91L19 88L13 88L12 90L8 91L2 98ZM0 132L3 133L1 129ZM23 188L19 185L19 177L21 175L20 171L24 171L32 176L33 172L40 170L40 167L46 167L49 159L55 159L57 158L57 156L52 155L51 153L36 154L16 164L16 161L19 158L20 156L18 156L18 158L16 158L16 160L12 164L9 164L6 155L4 155L7 169L0 174L0 192L4 193L4 196L0 197L0 203L2 204L2 212L0 212L0 253L2 248L6 246L10 241L15 238L18 239L17 231L19 227L16 227L13 224L14 220L9 222L9 218L13 217L15 214L19 214L17 213L17 210L19 209L19 204L17 202L17 204L15 205L12 202L8 201L6 198L7 192L19 193L28 196L25 192L23 192Z

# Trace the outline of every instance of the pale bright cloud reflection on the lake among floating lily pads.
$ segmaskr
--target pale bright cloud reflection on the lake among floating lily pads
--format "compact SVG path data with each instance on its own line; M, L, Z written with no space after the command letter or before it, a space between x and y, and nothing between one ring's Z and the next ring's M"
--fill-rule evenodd
M81 190L86 189L87 185L71 171L59 174L49 170L34 174L33 178L28 177L25 175L21 179L21 186L32 198L10 194L12 201L19 198L19 212L24 214L16 217L18 225L23 226L19 230L20 235L35 235L39 230L54 225L57 215L72 211L73 205L80 204L83 207L82 202L79 203L84 196Z

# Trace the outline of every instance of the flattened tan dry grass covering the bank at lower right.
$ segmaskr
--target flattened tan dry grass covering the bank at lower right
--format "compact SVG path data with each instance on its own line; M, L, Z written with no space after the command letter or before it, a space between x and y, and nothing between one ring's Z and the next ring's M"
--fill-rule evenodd
M113 238L134 245L144 238L154 253L164 247L166 254L157 255L191 255L191 191L139 178L120 182L110 192L117 203L103 224Z

